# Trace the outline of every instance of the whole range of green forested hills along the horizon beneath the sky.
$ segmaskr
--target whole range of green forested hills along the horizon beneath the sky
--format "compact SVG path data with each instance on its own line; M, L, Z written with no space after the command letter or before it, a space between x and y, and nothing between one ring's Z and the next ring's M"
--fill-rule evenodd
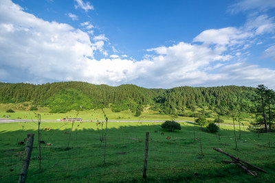
M134 112L150 105L153 110L170 114L194 106L226 106L230 101L238 101L245 109L255 95L255 88L245 86L147 89L133 84L114 87L87 82L0 83L0 103L29 102L49 106L52 112L67 112L80 106L83 109L111 107L114 112L130 108Z

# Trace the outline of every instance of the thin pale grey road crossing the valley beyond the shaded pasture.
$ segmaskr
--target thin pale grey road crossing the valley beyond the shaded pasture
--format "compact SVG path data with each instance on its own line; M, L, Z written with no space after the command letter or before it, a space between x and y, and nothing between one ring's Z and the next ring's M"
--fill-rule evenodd
M5 118L0 118L0 123L19 123L19 122L32 122L34 120L32 119L5 119ZM36 121L36 120L35 120ZM41 120L41 121L59 121L59 120ZM89 122L90 120L83 120L86 122ZM130 123L136 123L136 122L141 122L141 123L154 123L154 122L164 122L164 121L137 121L137 120L125 120L125 121L120 121L120 120L108 120L109 122L130 122ZM103 120L99 120L99 122L104 122ZM194 121L176 121L176 122L187 122L187 123L194 123ZM233 126L231 124L224 124L220 123L219 125L226 125L226 126ZM243 126L243 125L241 125ZM248 126L244 126L248 127Z

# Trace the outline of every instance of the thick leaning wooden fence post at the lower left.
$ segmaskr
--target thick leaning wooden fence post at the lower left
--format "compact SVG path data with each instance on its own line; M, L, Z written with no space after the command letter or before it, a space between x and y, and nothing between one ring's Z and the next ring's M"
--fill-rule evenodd
M28 168L30 164L30 156L32 155L32 145L34 144L34 134L28 134L27 144L25 146L25 158L23 160L19 183L24 183L27 178Z

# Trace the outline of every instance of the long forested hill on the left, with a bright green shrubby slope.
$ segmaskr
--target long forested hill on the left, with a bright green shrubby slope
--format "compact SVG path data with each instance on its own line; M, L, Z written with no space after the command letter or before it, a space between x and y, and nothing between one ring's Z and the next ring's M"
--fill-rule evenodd
M42 85L1 83L0 103L32 101L38 106L49 106L52 112L76 110L80 106L86 109L108 108L109 103L112 103L113 111L130 109L135 112L140 106L153 103L153 98L163 91L162 89L146 89L133 84L112 87L86 82L58 82ZM67 94L69 96L65 96ZM77 99L71 103L65 102L74 97ZM63 106L65 109L62 108Z

